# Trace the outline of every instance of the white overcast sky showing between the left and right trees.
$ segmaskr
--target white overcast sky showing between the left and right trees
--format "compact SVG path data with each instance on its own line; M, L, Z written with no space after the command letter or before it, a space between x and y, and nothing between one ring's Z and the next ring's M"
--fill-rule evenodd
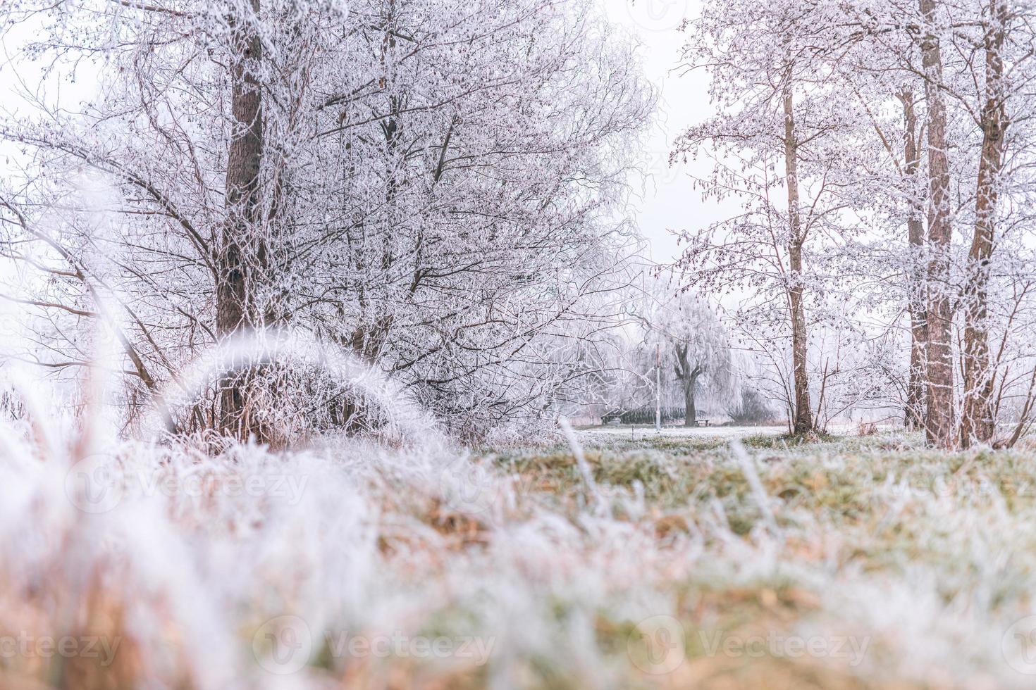
M670 168L668 164L675 137L711 114L704 76L697 72L681 74L677 70L680 49L685 40L685 34L678 31L678 27L685 17L697 14L701 0L597 1L612 23L639 40L644 71L659 90L659 110L640 157L648 177L642 187L640 179L636 180L638 193L632 200L632 210L651 243L651 257L658 262L671 262L678 257L679 247L670 230L700 227L722 215L715 202L701 202L699 192L691 186L686 167ZM17 84L12 65L3 64L13 53L11 38L17 42L20 36L8 35L0 54L0 117L13 113L24 115L27 111L24 100L12 97ZM18 71L22 80L31 81L24 63ZM76 96L88 98L90 89L81 82L75 86L65 85L62 91L62 99L69 96L75 99ZM69 92L77 93L74 96ZM0 145L0 174L13 172L16 160L11 159L11 154L18 157L9 147ZM701 175L707 169L698 163L695 171Z

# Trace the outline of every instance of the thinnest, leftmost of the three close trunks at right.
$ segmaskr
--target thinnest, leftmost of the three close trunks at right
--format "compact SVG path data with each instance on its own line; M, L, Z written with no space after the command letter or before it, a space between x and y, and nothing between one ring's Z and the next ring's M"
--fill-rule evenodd
M918 141L914 92L910 89L903 89L899 92L899 99L903 104L903 124L905 126L904 173L911 193L915 194L918 188L917 175L921 166L921 147ZM924 271L921 265L921 259L924 256L923 214L923 201L912 197L911 213L906 220L906 241L910 246L910 268L906 276L911 323L910 380L906 384L906 409L903 414L904 424L911 430L922 428L924 425L925 353L928 328L924 297Z

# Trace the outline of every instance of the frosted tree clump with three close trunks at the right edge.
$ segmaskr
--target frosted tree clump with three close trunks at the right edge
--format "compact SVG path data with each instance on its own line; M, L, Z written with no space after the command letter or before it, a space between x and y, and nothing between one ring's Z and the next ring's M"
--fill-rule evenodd
M1031 128L1009 123L1028 117L1033 95L1032 7L999 0L848 6L864 36L858 68L899 89L906 151L897 168L926 182L911 204L926 212L909 224L923 265L912 290L920 289L923 299L912 302L923 301L923 309L912 306L912 313L914 350L924 361L912 369L922 369L926 381L927 436L944 448L991 443L998 370L1013 349L1005 338L996 350L990 337L1008 335L1001 331L1008 321L1016 332L1023 324L1012 295L1026 279L1010 268L1025 253L1014 230L1020 207L1006 222L1001 214L1031 184L1024 162L1031 159Z

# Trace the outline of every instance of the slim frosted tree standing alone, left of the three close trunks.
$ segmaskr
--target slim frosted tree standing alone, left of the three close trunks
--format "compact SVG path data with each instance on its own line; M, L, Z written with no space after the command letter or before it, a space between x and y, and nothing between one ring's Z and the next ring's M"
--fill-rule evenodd
M686 28L685 63L709 71L717 115L683 134L672 155L713 158L699 181L706 198L738 200L742 213L687 229L680 265L707 292L754 293L739 319L789 352L793 426L804 433L815 422L810 319L823 318L824 247L843 230L847 145L859 126L833 97L839 83L825 62L844 31L834 7L747 0L707 3Z

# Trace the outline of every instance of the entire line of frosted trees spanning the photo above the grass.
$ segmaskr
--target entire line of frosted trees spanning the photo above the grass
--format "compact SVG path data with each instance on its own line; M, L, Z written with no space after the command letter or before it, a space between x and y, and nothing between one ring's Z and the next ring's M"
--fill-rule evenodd
M127 429L206 351L299 331L464 438L650 403L657 369L688 423L700 395L799 433L885 415L1013 445L1034 11L707 0L682 64L715 115L672 162L711 160L693 183L737 212L659 268L628 205L655 93L592 0L15 0L5 356L77 381L104 324ZM290 441L375 407L319 362L249 360L171 425Z

